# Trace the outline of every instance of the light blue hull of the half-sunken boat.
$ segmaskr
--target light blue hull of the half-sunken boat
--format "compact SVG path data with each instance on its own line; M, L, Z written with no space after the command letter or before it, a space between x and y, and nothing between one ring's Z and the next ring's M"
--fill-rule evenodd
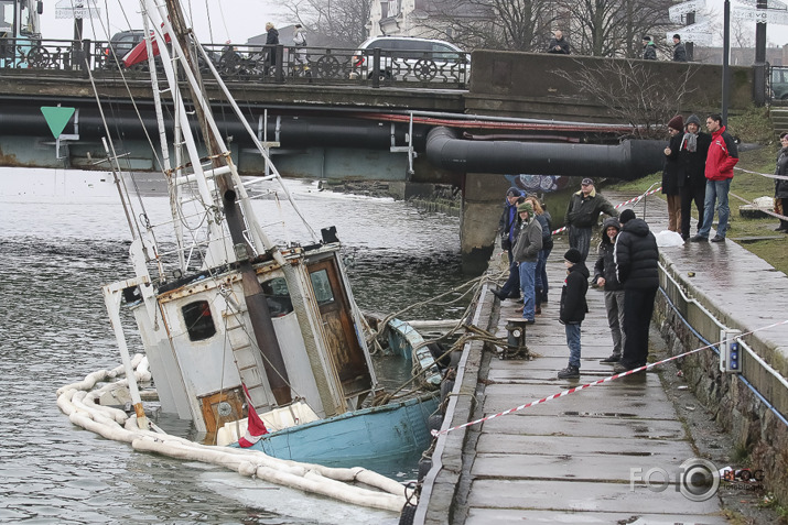
M285 428L263 436L252 448L274 458L332 466L422 452L430 446L428 419L438 408L438 397L363 408Z

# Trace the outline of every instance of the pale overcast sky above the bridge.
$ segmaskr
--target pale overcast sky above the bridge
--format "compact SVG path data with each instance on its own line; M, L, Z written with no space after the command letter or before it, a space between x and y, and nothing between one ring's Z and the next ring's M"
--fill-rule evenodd
M74 21L55 19L55 6L63 1L71 0L45 2L42 17L44 39L71 40L73 37ZM754 1L752 0L751 3ZM788 3L788 0L782 1ZM724 0L706 0L706 7L719 15L720 26L722 25L723 2ZM142 29L139 1L123 0L122 9L119 0L96 0L96 4L101 9L101 20L99 22L86 19L84 23L85 36L106 41L108 40L107 33L111 36L118 31ZM184 0L182 4L186 17L193 13L192 26L202 42L224 43L231 40L236 44L242 44L251 36L265 33L266 22L271 21L279 28L287 25L289 20L287 12L279 7L281 0ZM731 6L732 8L744 7L744 3L732 0ZM109 24L109 29L106 29L107 24ZM95 26L95 34L90 30L91 25ZM755 29L753 29L754 34ZM721 40L721 36L719 39ZM788 25L767 24L767 41L769 44L780 46L788 44Z

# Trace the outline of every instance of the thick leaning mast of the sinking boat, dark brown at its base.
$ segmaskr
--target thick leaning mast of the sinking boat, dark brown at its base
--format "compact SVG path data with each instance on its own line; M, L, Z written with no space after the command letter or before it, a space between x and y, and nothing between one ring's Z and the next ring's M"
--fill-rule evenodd
M143 0L143 3L150 7L151 2L150 0ZM181 6L176 0L166 0L166 10L169 13L169 21L165 19L164 24L165 26L171 25L172 28L173 50L176 55L181 54L185 59L186 64L184 64L184 67L188 67L193 76L198 77L199 69L197 67L196 58L191 53L188 42L190 31L185 25ZM180 50L177 50L179 47ZM161 50L161 52L162 59L165 62L166 51ZM169 66L169 64L164 65L165 68ZM192 77L192 75L187 76ZM223 151L223 149L218 145L218 138L214 135L212 130L212 128L215 129L215 127L212 127L208 122L208 119L213 119L213 116L211 114L207 102L207 110L204 110L203 105L199 102L199 98L203 97L203 94L198 91L198 86L195 86L192 81L190 81L188 88L192 95L192 100L194 101L194 110L199 122L203 136L206 141L213 167L215 173L220 173L219 168L229 166L231 163L231 160L229 160L229 152ZM193 163L197 164L198 160L194 158ZM277 340L277 336L273 330L273 322L271 320L271 313L268 308L268 302L266 300L262 287L257 278L257 273L250 262L250 258L255 252L244 236L244 217L238 207L237 194L234 188L233 178L230 175L225 173L216 177L216 184L222 196L224 215L227 220L227 227L234 244L235 256L241 274L244 298L249 314L249 319L252 325L257 346L263 354L266 376L268 378L271 392L273 393L277 403L284 405L292 401L288 372L284 367L284 359L282 358L279 341ZM259 248L262 249L268 247Z

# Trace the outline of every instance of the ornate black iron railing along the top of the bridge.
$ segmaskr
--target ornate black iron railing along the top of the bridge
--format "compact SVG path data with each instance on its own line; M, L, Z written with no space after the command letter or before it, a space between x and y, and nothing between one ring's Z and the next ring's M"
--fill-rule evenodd
M203 44L211 62L227 81L465 88L471 61L463 53L392 52L267 45ZM0 39L0 75L14 69L60 70L84 76L147 76L148 61L126 67L108 42ZM161 58L156 57L159 62ZM207 72L204 58L198 61Z

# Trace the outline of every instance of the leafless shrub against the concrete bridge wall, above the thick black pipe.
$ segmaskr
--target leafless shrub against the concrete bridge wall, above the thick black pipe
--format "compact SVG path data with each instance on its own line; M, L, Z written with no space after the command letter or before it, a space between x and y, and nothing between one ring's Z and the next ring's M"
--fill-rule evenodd
M577 91L602 103L608 112L633 127L640 138L657 138L665 124L681 111L687 96L698 88L692 78L698 67L689 66L681 77L665 83L649 64L633 59L575 61L580 68L551 73L572 83Z

